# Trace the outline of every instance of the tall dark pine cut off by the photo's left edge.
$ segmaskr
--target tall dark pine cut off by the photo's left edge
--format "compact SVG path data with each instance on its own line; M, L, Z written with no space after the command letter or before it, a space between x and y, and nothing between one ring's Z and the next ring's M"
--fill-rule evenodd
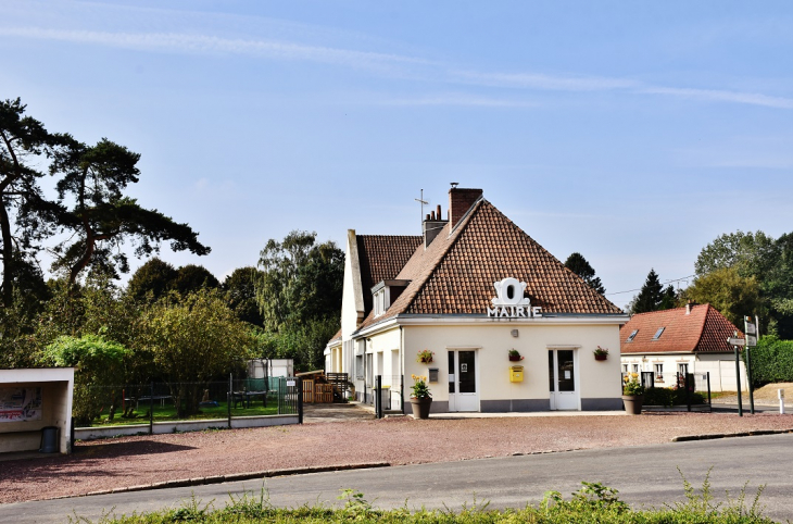
M17 98L0 102L0 240L2 241L2 303L13 303L14 279L26 250L51 232L59 208L41 194L37 169L59 142L41 122L25 115Z

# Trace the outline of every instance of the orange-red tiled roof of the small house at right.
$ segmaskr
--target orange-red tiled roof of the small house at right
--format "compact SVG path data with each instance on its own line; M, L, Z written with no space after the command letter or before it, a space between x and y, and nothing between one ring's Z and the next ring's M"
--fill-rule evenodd
M657 340L653 340L658 328L664 333ZM633 330L639 329L632 341L627 339ZM714 352L732 351L727 339L738 330L730 321L723 317L710 304L691 307L691 313L685 314L685 308L676 308L665 311L653 311L633 315L619 329L619 340L622 353L658 353L658 352Z

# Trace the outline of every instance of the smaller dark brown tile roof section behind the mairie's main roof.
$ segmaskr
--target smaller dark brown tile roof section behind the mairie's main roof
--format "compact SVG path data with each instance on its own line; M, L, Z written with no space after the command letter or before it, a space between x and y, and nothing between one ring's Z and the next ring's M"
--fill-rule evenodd
M416 248L424 241L412 235L356 235L364 314L372 311L372 287L380 280L394 278Z

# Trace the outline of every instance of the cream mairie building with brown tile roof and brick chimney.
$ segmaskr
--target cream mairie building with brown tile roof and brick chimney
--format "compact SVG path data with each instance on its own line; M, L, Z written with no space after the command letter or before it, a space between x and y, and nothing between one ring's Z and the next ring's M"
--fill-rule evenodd
M481 189L453 187L446 219L439 205L423 229L348 234L341 330L326 370L348 373L358 400L372 401L381 375L391 409L410 413L416 374L429 377L435 413L621 409L619 308ZM612 358L595 361L597 346ZM511 349L524 360L511 362ZM431 363L417 362L423 350Z

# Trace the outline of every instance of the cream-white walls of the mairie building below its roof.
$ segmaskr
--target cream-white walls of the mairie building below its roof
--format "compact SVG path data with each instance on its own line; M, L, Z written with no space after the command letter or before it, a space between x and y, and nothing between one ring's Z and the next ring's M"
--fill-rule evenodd
M407 401L411 376L436 371L437 380L429 382L435 413L618 410L619 322L584 316L394 321L362 333L366 350L365 358L358 359L364 377L357 386L358 398L363 400L362 386L370 389L379 374L383 385L392 387L404 376ZM597 346L612 348L612 357L595 361L592 351ZM425 349L435 353L431 363L417 362L417 353ZM509 361L511 349L524 360ZM550 359L555 359L553 365ZM511 382L515 365L523 366L520 382ZM391 408L400 409L399 395L392 391L390 397Z

